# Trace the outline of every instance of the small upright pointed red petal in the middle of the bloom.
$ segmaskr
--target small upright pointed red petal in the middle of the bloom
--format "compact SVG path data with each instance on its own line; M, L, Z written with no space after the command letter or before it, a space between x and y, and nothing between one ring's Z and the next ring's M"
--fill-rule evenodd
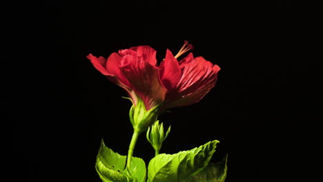
M164 61L161 61L159 68L163 85L168 91L173 90L181 79L182 71L170 50L166 51L166 57Z

